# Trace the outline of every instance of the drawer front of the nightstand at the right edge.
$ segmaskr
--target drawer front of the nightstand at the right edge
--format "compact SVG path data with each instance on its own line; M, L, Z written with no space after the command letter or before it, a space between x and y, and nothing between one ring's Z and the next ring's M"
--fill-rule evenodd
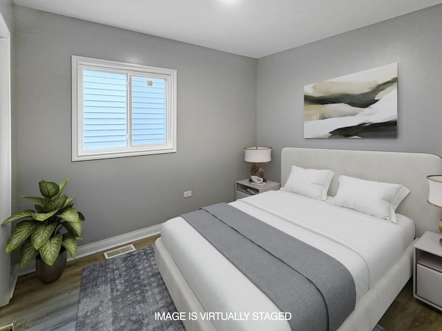
M416 265L416 296L442 306L442 272Z

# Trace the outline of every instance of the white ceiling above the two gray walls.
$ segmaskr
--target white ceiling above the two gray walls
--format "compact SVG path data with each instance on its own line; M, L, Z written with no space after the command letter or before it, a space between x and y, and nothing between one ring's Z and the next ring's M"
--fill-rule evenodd
M442 0L13 0L16 5L259 59Z

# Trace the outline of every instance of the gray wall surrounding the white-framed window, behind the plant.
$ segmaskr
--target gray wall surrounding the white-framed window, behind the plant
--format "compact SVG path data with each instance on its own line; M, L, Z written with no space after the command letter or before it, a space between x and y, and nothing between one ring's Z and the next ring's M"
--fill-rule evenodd
M15 14L14 181L69 177L84 245L233 201L256 143L256 60L19 6ZM70 161L71 55L177 70L177 153ZM185 190L193 197L183 198ZM16 200L15 209L31 205Z

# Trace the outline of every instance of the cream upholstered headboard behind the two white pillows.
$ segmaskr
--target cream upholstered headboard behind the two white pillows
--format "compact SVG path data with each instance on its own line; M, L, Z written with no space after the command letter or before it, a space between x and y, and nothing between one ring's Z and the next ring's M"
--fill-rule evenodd
M320 148L284 148L281 152L281 185L289 177L291 165L310 169L330 169L335 173L329 195L338 189L340 174L405 185L410 194L396 212L414 220L416 237L427 231L439 232L442 210L427 203L427 175L442 174L442 159L434 154L330 150Z

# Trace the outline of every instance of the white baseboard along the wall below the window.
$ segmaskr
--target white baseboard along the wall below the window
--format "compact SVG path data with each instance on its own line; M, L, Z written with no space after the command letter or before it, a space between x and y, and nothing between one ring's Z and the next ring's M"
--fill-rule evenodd
M104 250L109 250L119 245L124 245L125 243L131 243L133 241L154 236L155 234L160 234L160 230L161 224L158 224L150 226L149 228L128 232L116 237L97 241L96 243L88 243L87 245L79 246L77 250L77 259L79 259L80 257L87 257L88 255L102 252ZM70 255L68 254L68 261L71 260L73 260L73 258L70 257ZM23 269L20 268L20 263L14 265L11 272L11 298L12 294L14 294L17 278L25 274L30 274L31 272L35 272L35 263L33 263L32 261Z

